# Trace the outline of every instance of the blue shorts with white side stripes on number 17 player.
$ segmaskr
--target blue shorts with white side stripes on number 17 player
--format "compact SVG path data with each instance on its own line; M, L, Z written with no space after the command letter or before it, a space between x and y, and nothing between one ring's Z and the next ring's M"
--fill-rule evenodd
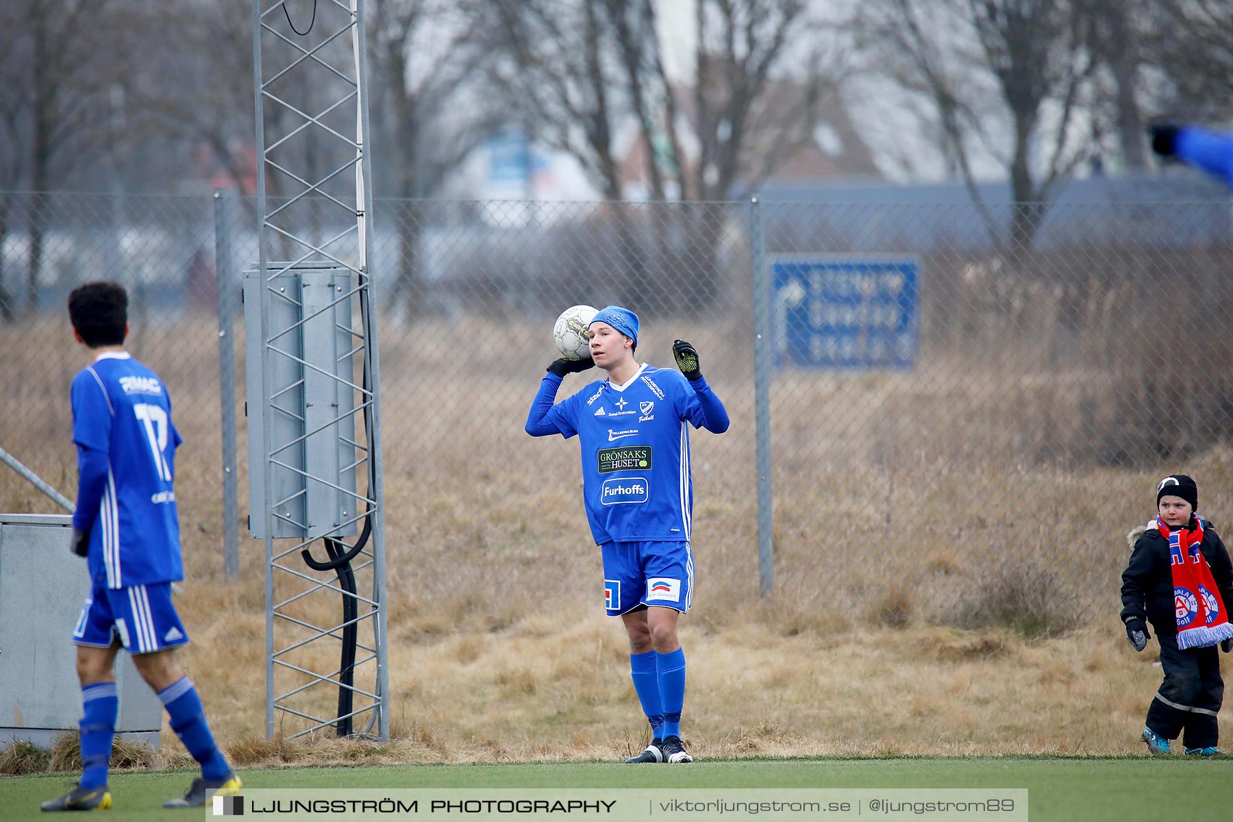
M189 632L171 604L171 583L107 588L106 579L95 579L73 630L73 642L110 648L116 638L133 654L189 645Z

